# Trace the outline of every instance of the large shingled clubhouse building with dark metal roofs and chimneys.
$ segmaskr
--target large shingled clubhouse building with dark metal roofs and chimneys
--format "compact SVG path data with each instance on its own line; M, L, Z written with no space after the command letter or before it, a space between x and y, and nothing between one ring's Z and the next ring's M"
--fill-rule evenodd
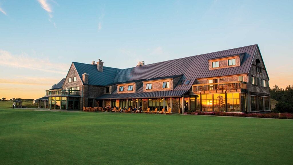
M73 62L46 90L48 109L171 108L183 112L270 111L269 77L258 45L127 69Z

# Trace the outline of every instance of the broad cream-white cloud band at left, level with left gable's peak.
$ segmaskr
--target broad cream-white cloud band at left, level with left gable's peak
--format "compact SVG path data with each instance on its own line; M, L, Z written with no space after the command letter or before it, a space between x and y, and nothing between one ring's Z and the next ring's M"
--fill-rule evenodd
M68 65L63 63L51 63L49 59L31 58L27 54L13 55L0 49L0 65L16 68L27 68L50 73L67 74ZM46 65L44 65L46 64Z

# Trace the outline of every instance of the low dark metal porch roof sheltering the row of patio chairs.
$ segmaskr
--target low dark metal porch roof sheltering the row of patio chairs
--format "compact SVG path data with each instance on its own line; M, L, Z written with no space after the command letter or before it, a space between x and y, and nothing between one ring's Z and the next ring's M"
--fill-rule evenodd
M157 97L181 97L189 90L167 90L156 92L135 92L123 94L105 94L97 97L98 100L103 99L135 99L135 98L157 98Z

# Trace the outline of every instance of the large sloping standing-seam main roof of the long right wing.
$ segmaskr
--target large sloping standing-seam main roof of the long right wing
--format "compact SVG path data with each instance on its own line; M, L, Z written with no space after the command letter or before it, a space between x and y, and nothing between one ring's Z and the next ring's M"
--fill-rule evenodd
M177 85L174 90L188 90L192 86L193 81L198 78L247 74L250 70L256 48L258 48L257 44L117 70L114 82L151 79L182 74L183 76L181 80L190 79L191 82L188 85ZM245 54L240 66L209 70L209 59L241 53Z

